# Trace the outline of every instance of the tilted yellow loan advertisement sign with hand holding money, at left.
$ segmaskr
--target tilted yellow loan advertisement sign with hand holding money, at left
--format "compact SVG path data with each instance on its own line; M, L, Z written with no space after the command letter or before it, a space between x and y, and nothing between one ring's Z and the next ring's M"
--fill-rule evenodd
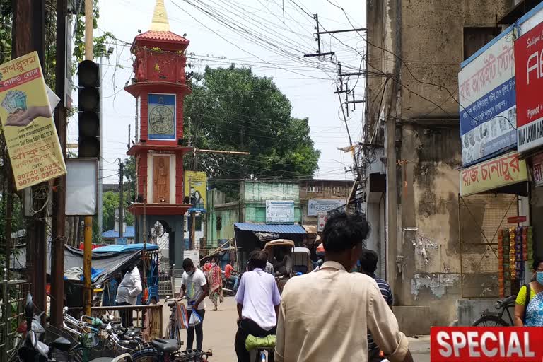
M37 52L0 65L0 121L18 190L66 173Z

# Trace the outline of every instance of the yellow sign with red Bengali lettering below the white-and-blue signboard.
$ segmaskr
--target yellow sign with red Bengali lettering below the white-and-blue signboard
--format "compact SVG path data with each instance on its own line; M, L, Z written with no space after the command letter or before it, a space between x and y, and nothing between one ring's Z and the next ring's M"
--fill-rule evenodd
M477 194L527 180L526 161L519 160L518 153L511 152L461 170L460 194Z

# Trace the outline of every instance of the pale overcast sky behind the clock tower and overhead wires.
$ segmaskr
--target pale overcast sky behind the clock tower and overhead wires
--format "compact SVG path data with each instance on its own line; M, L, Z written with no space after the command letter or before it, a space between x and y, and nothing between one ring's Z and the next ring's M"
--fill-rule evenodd
M283 11L284 4L284 11ZM337 67L327 59L304 58L315 53L313 40L315 21L319 14L325 30L349 29L344 11L356 28L363 27L366 18L364 1L360 0L165 0L170 30L187 34L189 53L194 53L192 69L204 66L250 66L258 76L273 77L279 89L292 103L294 117L308 117L311 137L322 155L317 178L352 179L344 168L351 167L349 153L338 147L349 145L335 91ZM132 78L129 46L138 30L149 29L154 0L100 0L100 18L95 35L109 31L122 42L112 44L115 52L104 59L103 72L103 175L104 182L118 182L116 158L126 157L128 125L134 137L134 107L132 95L124 85ZM204 9L208 14L197 7ZM210 16L210 15L211 16ZM284 19L284 23L283 23ZM223 21L221 23L220 21ZM224 24L226 23L226 25ZM258 37L259 40L255 39ZM343 64L344 72L357 71L361 65L363 40L356 32L339 33L334 37L322 35L322 52L332 50ZM343 43L343 44L342 44ZM357 52L358 51L358 52ZM120 65L119 68L115 65ZM363 95L363 81L351 77L350 87L356 98ZM76 102L76 96L74 96ZM350 106L352 110L352 106ZM351 111L350 110L350 111ZM363 105L349 112L349 130L354 141L361 134ZM69 122L69 142L77 142L77 122ZM243 151L243 150L240 150Z

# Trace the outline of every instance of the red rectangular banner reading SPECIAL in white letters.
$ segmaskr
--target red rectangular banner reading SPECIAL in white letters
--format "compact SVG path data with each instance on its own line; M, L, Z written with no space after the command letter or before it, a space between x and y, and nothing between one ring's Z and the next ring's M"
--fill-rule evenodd
M543 328L432 327L431 362L542 362Z

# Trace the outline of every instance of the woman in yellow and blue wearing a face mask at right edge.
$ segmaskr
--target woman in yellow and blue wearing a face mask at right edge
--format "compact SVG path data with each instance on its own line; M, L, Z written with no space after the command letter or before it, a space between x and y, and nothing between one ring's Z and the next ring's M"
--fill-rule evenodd
M520 288L515 300L515 327L543 327L543 258L535 257L534 280Z

